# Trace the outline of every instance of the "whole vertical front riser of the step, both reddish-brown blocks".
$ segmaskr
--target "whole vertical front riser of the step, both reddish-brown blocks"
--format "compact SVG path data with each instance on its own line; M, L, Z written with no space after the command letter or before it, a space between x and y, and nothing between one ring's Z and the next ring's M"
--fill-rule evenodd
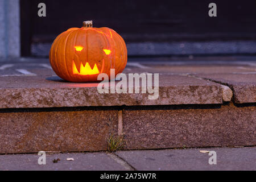
M105 151L118 134L127 150L255 146L255 113L233 104L1 110L0 153Z

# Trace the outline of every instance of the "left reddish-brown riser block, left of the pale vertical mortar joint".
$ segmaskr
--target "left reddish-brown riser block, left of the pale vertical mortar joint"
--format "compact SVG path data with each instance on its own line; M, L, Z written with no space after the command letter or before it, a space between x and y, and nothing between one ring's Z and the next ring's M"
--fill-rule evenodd
M0 154L105 151L117 133L115 110L0 110Z

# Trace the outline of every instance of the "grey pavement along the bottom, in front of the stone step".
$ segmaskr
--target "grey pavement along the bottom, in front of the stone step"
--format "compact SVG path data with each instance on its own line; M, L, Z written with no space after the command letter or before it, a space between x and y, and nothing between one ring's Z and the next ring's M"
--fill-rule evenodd
M209 164L208 153L215 151L217 164ZM172 170L256 170L256 147L191 148L146 151L118 151L113 154L47 154L39 165L37 154L0 155L0 170L52 171L172 171ZM74 160L68 161L67 158ZM53 163L53 160L60 159Z

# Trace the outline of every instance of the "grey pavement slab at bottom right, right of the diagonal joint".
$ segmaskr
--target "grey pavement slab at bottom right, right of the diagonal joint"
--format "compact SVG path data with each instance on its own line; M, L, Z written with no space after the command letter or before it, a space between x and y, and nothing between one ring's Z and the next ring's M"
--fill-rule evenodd
M210 165L208 154L216 151L217 164ZM118 151L116 154L139 171L176 170L256 170L256 147L193 148L185 150Z

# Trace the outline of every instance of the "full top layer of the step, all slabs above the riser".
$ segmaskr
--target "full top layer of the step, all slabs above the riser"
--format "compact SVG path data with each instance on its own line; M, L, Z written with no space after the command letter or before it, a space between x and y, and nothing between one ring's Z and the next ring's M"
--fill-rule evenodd
M151 101L148 94L98 94L97 84L65 82L56 77L47 59L10 60L8 64L13 66L0 70L0 108L221 104L222 100L230 101L231 94L222 92L220 84L189 78L189 74L209 78L215 74L217 78L221 77L224 84L233 86L237 103L255 102L255 75L252 72L256 67L251 62L213 61L211 65L207 62L181 61L179 65L174 65L172 62L161 62L165 59L156 59L159 61L156 63L153 60L129 62L125 70L125 73L160 73L159 98ZM1 66L6 66L6 63ZM20 69L26 69L31 74L24 75L17 71ZM232 73L232 80L224 80L227 72Z

